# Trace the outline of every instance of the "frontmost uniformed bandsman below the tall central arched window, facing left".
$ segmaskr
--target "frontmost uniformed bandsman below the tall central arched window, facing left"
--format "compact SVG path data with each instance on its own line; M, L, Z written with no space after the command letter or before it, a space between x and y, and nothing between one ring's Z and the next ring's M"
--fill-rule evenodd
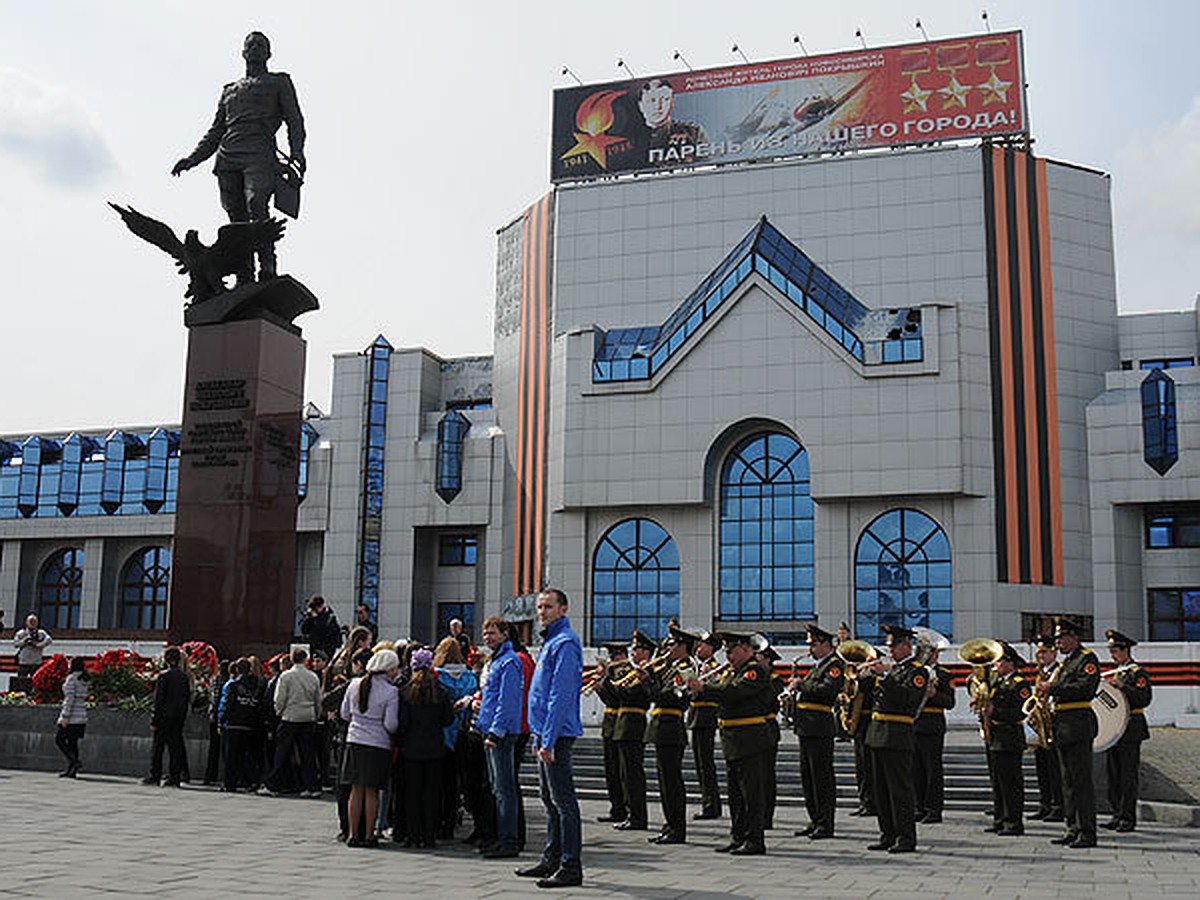
M775 691L767 668L755 659L755 650L767 646L757 634L722 632L725 656L731 671L716 683L688 682L688 689L701 700L716 700L721 728L721 751L730 775L730 842L718 853L761 856L767 852L763 839L763 811L767 802L764 779L768 756L775 738L770 720Z

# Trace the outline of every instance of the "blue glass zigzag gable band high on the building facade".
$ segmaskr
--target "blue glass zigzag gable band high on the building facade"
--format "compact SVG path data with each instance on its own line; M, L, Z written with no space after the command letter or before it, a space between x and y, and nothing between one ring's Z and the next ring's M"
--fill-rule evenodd
M654 377L751 272L769 281L859 362L922 360L920 310L864 306L763 216L661 325L611 329L600 335L592 380Z

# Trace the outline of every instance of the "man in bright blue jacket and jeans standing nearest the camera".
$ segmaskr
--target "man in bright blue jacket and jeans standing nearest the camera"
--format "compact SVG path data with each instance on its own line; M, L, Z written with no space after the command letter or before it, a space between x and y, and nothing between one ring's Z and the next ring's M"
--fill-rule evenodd
M539 888L583 883L580 802L575 797L571 750L583 734L580 691L583 647L566 618L566 594L546 588L538 594L541 653L529 685L529 733L538 754L538 785L546 806L546 847L536 865L517 875L538 878Z

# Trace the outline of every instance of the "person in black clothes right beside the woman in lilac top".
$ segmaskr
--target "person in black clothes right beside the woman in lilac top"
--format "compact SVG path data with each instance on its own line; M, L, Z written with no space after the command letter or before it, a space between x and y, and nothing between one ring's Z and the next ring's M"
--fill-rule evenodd
M450 695L433 673L433 654L413 653L413 676L401 692L400 742L404 755L406 847L432 848L442 804L444 731L454 721Z

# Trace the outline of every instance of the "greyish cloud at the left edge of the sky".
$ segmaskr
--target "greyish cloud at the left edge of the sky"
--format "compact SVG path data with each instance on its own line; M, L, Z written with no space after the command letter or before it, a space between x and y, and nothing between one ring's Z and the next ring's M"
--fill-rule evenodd
M47 181L84 187L116 168L91 114L70 94L0 67L0 154Z

